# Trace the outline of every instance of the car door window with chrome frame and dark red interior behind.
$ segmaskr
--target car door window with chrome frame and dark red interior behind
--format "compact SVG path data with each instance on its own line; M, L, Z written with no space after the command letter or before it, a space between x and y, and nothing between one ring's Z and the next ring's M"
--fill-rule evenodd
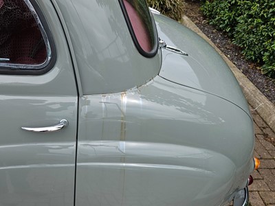
M28 0L0 0L0 67L42 69L52 57L45 30Z

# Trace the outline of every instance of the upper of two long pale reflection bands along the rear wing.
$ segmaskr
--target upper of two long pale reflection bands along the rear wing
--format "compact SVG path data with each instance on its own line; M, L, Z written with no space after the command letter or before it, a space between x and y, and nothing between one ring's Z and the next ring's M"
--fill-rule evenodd
M190 159L208 159L213 157L210 152L198 148L189 148L173 144L157 144L148 142L132 141L81 141L79 144L80 155L88 155L89 158L96 156L128 155L130 157L172 157ZM93 148L93 150L90 150ZM127 148L127 150L125 150ZM91 153L94 151L94 154Z

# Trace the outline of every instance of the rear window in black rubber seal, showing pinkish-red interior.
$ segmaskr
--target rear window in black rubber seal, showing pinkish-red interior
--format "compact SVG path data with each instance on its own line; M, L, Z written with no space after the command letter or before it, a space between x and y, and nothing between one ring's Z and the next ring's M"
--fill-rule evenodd
M157 31L146 0L121 0L120 5L139 52L146 57L157 53Z

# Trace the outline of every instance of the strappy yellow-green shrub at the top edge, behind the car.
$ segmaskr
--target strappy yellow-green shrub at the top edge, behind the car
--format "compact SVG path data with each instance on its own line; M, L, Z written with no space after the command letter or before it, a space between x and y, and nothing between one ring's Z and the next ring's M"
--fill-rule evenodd
M147 0L147 3L151 8L158 10L176 21L179 21L181 15L184 13L183 0Z

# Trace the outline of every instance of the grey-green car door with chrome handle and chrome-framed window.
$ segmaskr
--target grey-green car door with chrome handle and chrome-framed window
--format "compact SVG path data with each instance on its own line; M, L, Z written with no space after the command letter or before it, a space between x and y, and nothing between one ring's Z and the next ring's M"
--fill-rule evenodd
M0 205L74 205L78 92L52 3L0 0L0 37Z

